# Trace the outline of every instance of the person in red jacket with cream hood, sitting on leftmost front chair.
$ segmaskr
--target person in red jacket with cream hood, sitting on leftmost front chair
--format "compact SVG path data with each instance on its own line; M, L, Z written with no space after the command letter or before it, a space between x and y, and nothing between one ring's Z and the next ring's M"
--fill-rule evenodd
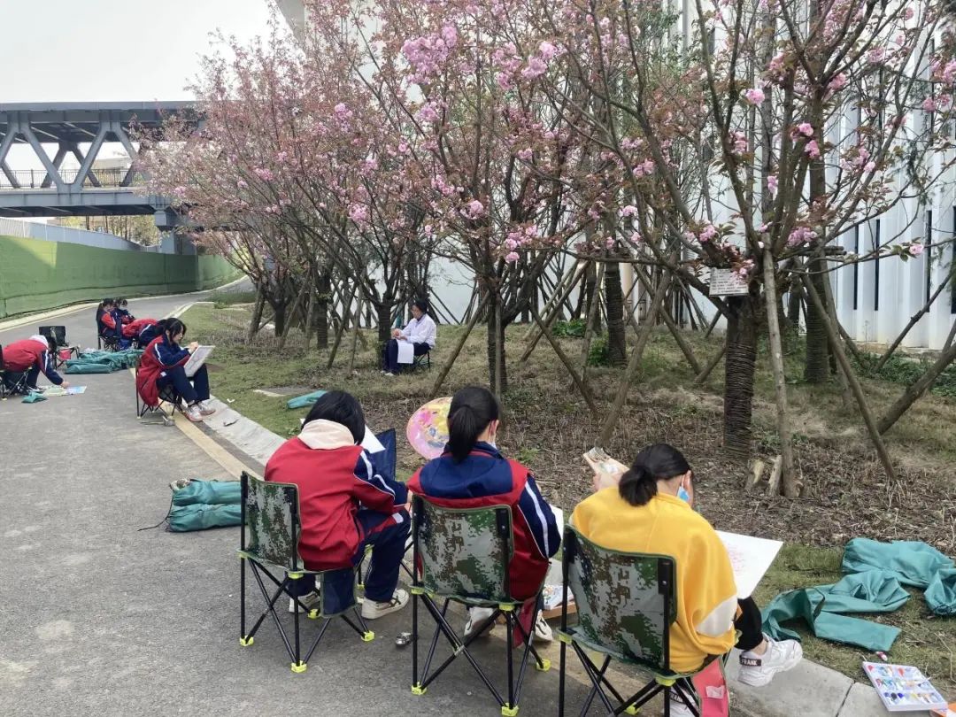
M296 438L272 454L266 480L294 484L301 505L299 552L305 566L329 574L323 589L347 595L353 569L373 546L364 579L361 615L377 619L408 602L398 589L399 570L409 531L408 490L375 464L360 443L365 416L359 401L344 391L322 394ZM309 608L318 602L315 579L304 576L293 585L293 597ZM290 601L290 612L296 602Z

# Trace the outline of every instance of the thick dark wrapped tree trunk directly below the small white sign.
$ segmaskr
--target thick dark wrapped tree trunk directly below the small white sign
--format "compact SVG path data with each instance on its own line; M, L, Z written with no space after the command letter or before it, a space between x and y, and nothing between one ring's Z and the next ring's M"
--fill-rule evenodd
M727 353L724 362L724 449L746 458L752 449L753 372L758 313L752 296L728 296Z

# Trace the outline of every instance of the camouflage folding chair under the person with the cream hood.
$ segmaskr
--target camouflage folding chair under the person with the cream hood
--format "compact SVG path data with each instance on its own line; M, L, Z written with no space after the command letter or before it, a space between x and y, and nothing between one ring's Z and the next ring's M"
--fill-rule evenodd
M299 517L298 488L288 483L266 483L265 481L250 476L243 471L242 474L242 538L239 549L241 563L241 586L240 602L242 605L242 621L240 626L239 643L244 647L252 644L252 639L258 631L259 626L267 615L272 616L279 636L286 646L286 652L289 653L292 662L293 672L305 672L315 648L319 641L325 635L326 629L333 618L341 618L348 625L359 633L362 641L369 642L375 640L375 633L368 629L365 620L359 613L359 602L355 595L355 580L352 580L352 593L344 604L327 604L341 601L341 595L330 597L329 591L323 590L323 581L325 576L338 573L339 571L313 571L307 570L302 562L302 557L298 553L298 541L302 532L302 524ZM259 585L262 597L266 600L266 610L255 621L249 632L246 631L246 563L252 576ZM284 575L279 579L277 575ZM319 600L317 609L309 610L306 606L294 597L290 588L294 580L302 576L314 575L315 586L322 596ZM272 581L275 591L270 594L263 576ZM333 591L337 592L337 591ZM282 595L293 597L296 604L294 610L294 633L293 641L290 642L286 629L282 626L278 613L275 611L275 602ZM348 613L353 612L356 621L349 619ZM312 646L303 656L301 654L301 645L299 639L299 613L308 615L310 619L322 619L322 627L315 637Z

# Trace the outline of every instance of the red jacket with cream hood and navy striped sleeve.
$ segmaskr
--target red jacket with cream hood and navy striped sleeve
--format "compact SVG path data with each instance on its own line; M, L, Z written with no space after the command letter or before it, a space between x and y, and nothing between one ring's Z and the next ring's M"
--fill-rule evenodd
M395 514L408 499L405 487L383 476L344 425L310 421L266 465L266 480L298 486L302 533L299 554L309 570L347 568L362 534L361 509Z

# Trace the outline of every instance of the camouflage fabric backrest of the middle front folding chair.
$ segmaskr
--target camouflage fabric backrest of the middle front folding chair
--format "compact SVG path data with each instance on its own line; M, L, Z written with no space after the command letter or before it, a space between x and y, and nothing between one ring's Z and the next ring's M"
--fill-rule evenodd
M468 604L513 603L508 588L511 509L448 509L422 502L424 589Z

